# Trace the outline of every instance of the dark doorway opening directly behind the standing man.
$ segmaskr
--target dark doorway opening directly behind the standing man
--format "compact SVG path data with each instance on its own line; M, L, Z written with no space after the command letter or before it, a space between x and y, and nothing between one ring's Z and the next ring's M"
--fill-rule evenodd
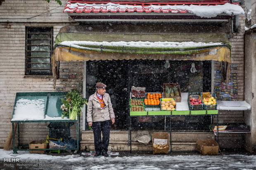
M129 88L127 60L99 60L86 62L86 96L94 94L96 82L107 85L116 116L116 123L111 130L127 129L127 114L129 113Z

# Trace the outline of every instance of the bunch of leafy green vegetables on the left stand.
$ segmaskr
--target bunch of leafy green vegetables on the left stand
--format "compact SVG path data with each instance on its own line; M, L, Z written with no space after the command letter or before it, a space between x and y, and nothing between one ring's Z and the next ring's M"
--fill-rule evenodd
M62 118L69 117L71 120L77 120L77 113L80 116L81 107L84 104L88 104L88 100L83 98L79 92L72 89L66 94L64 99L61 99L63 105L60 107L62 109Z

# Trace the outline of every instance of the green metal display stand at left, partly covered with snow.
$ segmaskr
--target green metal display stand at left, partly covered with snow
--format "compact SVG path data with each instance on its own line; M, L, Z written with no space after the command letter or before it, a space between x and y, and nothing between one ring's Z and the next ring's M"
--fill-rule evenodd
M24 92L17 93L14 108L12 113L12 119L14 117L15 106L19 99L28 99L28 100L38 100L43 99L45 101L44 108L44 117L48 117L47 119L39 119L39 120L11 120L12 122L12 147L14 154L17 154L17 151L24 150L56 150L54 149L21 149L21 147L28 147L28 144L20 143L20 131L19 131L19 123L28 123L28 122L76 122L76 138L77 138L77 147L76 148L68 148L68 150L79 150L79 141L80 141L80 117L77 120L70 119L56 119L56 117L61 117L62 110L60 106L62 105L61 99L66 96L67 92ZM52 119L49 119L52 117ZM14 134L14 123L17 123L17 133L18 133L18 144L15 146L15 134ZM66 148L58 148L58 150L67 150Z

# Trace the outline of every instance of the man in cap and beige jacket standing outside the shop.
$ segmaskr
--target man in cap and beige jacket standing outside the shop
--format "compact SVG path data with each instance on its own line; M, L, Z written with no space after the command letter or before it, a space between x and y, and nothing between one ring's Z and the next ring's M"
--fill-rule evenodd
M94 156L109 156L110 119L115 123L115 114L112 108L109 94L106 93L106 85L96 83L96 92L89 97L87 106L87 122L92 126L94 135ZM101 139L102 133L102 139Z

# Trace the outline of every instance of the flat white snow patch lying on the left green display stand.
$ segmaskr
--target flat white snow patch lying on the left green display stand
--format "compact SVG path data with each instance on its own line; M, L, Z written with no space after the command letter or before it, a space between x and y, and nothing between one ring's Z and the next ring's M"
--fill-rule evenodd
M12 121L44 119L45 100L19 99L14 108Z

